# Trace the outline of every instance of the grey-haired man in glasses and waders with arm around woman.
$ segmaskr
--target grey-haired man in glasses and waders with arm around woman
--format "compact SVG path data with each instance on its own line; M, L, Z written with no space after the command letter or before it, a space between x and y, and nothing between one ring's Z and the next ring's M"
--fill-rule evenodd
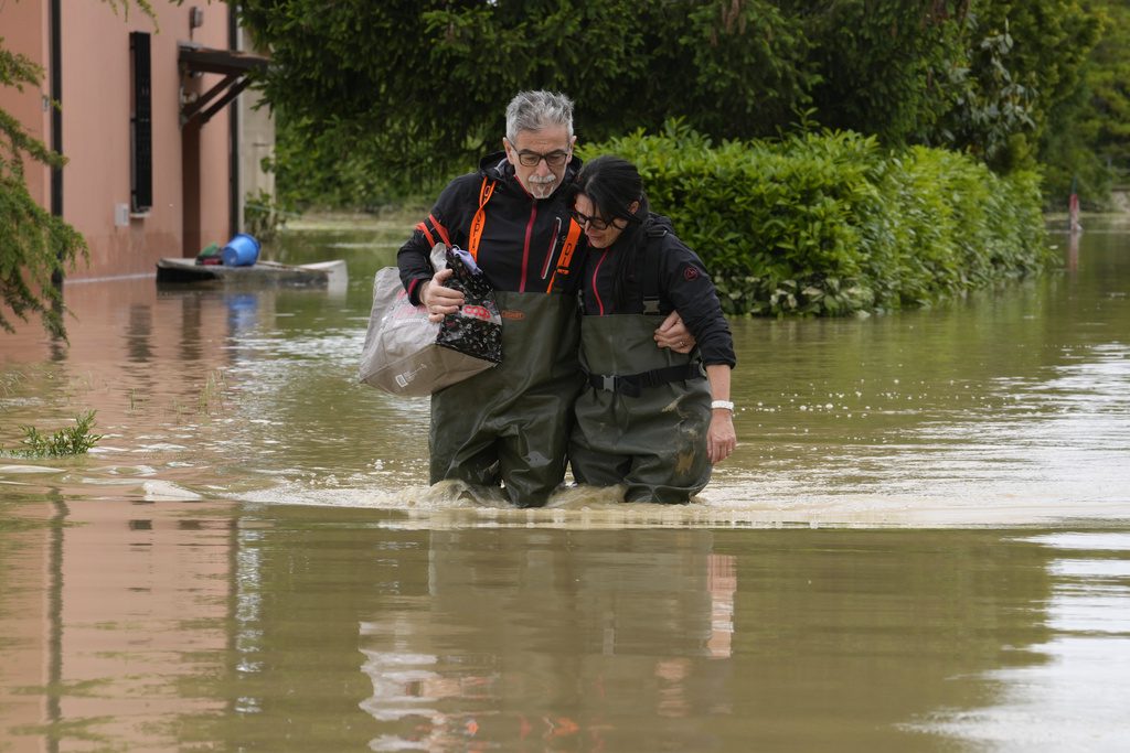
M437 242L466 248L495 289L503 316L503 362L432 395L431 483L460 479L497 487L519 507L540 507L565 476L572 408L581 388L576 277L581 228L563 185L573 157L573 103L522 91L506 107L504 151L452 181L397 254L412 303L435 321L459 310L462 294L433 277ZM659 347L693 342L672 314Z

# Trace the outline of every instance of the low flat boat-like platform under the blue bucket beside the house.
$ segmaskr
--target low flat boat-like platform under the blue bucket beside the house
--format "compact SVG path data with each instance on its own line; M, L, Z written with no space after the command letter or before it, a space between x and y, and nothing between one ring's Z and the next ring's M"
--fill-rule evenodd
M205 284L236 288L344 288L349 272L342 259L312 264L259 261L249 266L197 264L194 259L157 262L158 284Z

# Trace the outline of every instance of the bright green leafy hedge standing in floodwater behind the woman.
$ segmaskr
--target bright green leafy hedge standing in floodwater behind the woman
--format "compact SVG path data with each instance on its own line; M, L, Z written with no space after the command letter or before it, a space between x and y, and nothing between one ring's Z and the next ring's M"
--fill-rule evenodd
M730 314L925 306L1051 261L1040 176L871 137L725 142L668 123L592 145L640 167L652 209L706 263Z

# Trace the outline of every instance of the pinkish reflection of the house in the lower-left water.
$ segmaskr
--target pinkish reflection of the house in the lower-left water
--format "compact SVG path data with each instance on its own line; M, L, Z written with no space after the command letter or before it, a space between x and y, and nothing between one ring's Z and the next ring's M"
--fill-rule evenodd
M0 750L168 750L181 715L223 708L192 686L224 646L226 526L183 513L56 499L5 535Z

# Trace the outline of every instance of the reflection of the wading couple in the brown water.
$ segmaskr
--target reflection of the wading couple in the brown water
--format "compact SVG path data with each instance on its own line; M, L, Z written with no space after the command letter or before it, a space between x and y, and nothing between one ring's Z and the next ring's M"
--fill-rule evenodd
M625 536L433 532L428 589L360 622L373 750L559 738L596 750L626 700L636 750L704 750L688 718L729 713L733 557L709 532ZM673 737L672 737L673 736ZM652 742L654 742L654 746Z

